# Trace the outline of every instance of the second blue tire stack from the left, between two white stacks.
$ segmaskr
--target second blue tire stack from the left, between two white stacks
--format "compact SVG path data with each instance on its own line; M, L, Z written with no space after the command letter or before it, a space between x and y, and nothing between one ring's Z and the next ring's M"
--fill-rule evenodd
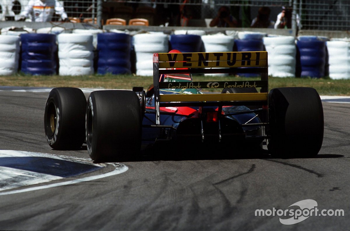
M131 37L125 33L97 35L98 74L131 74Z

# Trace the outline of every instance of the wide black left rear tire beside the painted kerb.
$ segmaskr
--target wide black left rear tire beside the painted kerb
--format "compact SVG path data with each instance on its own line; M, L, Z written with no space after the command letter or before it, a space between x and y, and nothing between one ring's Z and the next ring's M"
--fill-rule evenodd
M132 159L141 148L141 105L133 91L91 92L86 106L86 146L95 162Z

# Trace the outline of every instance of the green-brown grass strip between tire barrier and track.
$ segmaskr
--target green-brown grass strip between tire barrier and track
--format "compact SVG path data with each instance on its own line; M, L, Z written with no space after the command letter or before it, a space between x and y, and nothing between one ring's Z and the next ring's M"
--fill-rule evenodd
M234 77L234 76L194 76L194 81L246 81L260 78ZM79 87L79 88L105 88L105 89L131 89L139 86L148 88L153 83L151 76L137 75L84 75L84 76L41 76L41 75L13 75L0 76L1 86L21 87ZM279 78L269 77L269 89L277 87L312 87L320 95L350 96L349 80L311 79L311 78ZM215 91L215 90L214 90ZM221 91L221 89L216 89Z

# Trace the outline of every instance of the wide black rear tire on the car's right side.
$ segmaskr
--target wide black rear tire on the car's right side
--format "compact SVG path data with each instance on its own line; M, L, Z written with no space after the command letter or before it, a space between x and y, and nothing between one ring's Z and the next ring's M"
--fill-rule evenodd
M271 139L267 148L279 158L314 157L323 141L323 107L313 88L274 88L269 92Z

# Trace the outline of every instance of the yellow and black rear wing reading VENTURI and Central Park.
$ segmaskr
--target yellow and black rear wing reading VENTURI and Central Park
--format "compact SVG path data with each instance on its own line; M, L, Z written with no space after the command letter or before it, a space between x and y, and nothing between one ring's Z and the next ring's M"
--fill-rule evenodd
M161 74L260 73L260 80L216 82L159 82ZM160 107L204 105L267 105L266 51L211 53L154 53L153 84L156 124ZM261 88L260 93L160 95L160 89Z

